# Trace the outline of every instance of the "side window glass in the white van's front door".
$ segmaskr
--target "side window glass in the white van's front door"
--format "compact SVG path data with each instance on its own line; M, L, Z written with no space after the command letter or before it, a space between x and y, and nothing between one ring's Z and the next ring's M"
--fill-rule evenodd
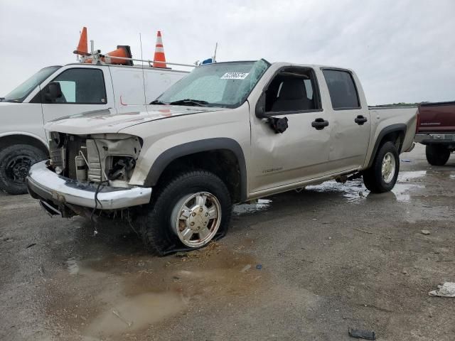
M63 96L55 103L106 104L105 79L100 69L75 68L60 73L53 82L59 82Z

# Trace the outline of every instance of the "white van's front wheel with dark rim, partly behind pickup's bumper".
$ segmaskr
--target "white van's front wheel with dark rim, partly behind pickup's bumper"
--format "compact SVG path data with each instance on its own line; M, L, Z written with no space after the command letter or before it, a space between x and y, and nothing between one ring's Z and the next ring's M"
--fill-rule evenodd
M26 175L33 163L47 155L28 144L14 144L0 151L0 190L17 195L27 193Z

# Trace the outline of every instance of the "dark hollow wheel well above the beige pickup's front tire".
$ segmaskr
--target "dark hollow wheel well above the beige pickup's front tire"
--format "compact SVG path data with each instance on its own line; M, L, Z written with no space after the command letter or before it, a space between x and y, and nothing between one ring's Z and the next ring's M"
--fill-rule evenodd
M240 165L235 153L228 149L201 151L176 158L164 168L156 183L157 185L165 184L177 173L191 169L202 169L214 173L228 187L232 202L241 201Z

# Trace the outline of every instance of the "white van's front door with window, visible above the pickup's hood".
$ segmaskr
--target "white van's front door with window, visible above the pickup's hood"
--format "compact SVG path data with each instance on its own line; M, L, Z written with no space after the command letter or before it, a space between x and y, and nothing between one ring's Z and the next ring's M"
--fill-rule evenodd
M41 88L45 122L82 112L114 107L107 67L67 67ZM60 85L61 97L46 98L50 83Z

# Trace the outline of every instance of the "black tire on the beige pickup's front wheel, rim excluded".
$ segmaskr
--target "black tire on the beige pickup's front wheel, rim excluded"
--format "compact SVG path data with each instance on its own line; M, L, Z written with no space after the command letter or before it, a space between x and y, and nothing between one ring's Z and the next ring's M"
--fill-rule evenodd
M171 214L181 197L198 192L215 195L221 208L218 232L225 232L228 229L232 202L223 180L207 171L181 173L157 190L150 204L146 206L146 212L141 216L141 236L146 249L152 254L164 256L180 249L191 249L184 246L177 234L173 232Z

